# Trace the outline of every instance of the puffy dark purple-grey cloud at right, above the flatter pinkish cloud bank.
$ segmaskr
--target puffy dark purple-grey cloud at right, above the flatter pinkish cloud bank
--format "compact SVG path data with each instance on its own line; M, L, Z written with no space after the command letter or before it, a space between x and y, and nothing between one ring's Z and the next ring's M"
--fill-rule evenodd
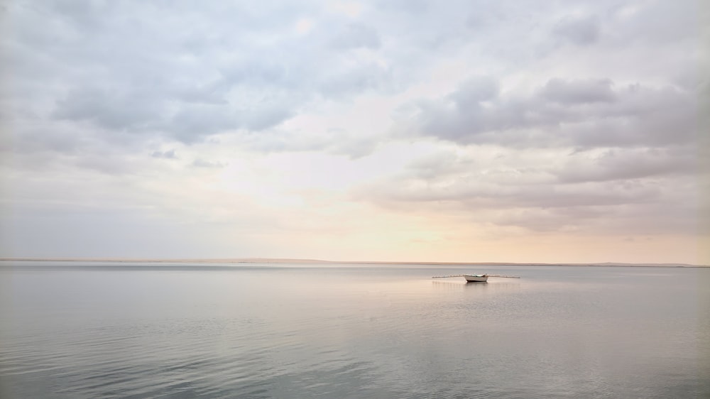
M695 94L677 87L618 87L608 79L553 78L530 93L498 95L488 81L461 84L399 116L403 130L454 143L660 146L695 138Z

